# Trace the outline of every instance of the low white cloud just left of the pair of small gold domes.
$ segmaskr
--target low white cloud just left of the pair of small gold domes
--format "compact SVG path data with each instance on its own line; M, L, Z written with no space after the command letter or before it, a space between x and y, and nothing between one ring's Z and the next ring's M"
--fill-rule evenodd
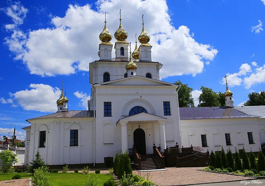
M30 90L22 90L13 94L17 103L25 110L41 112L57 111L56 100L59 99L59 88L44 84L30 84Z

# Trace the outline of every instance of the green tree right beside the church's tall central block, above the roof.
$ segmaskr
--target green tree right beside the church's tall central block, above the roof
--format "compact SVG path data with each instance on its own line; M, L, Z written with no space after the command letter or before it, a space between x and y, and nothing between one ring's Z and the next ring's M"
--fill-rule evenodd
M181 85L177 92L179 107L194 107L194 99L191 94L193 89L188 87L188 84L182 84L180 80L177 80L174 84Z

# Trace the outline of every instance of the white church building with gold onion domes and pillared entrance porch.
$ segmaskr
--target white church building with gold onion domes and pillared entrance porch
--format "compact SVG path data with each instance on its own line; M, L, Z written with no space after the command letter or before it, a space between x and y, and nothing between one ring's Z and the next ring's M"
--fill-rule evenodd
M234 107L227 87L227 107L179 108L177 92L181 87L160 81L162 64L152 61L150 37L144 22L142 26L141 44L138 48L136 42L131 53L120 18L112 58L112 35L105 21L99 36L100 59L89 64L92 94L88 110L68 110L62 87L56 113L26 120L31 126L24 128L25 164L37 151L49 165L75 167L109 166L116 153L128 151L143 169L148 167L144 163L148 157L164 167L162 161L167 153L173 153L172 147L183 154L220 151L221 145L233 152L234 147L240 150L243 146L247 152L259 151L265 143L265 106ZM197 150L189 148L191 145Z

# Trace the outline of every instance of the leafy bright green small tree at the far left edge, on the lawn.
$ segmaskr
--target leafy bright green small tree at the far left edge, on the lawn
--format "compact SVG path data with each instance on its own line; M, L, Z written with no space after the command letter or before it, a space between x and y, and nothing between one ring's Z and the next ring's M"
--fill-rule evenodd
M2 161L2 169L4 174L8 172L8 170L14 163L18 162L16 156L18 155L14 154L10 150L4 150L0 152L0 160Z

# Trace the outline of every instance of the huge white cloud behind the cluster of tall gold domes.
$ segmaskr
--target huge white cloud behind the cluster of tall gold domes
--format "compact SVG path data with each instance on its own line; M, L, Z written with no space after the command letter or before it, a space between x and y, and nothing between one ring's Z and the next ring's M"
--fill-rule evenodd
M69 5L64 17L51 19L54 27L17 32L6 38L6 44L31 74L54 76L88 71L89 62L98 59L98 36L104 27L105 11L114 44L121 9L128 42L134 42L135 33L141 33L141 15L145 15L145 29L153 46L152 59L164 63L161 77L201 73L204 63L212 61L218 53L213 46L196 42L187 26L175 28L165 0L99 0L96 6L97 11L90 5Z

